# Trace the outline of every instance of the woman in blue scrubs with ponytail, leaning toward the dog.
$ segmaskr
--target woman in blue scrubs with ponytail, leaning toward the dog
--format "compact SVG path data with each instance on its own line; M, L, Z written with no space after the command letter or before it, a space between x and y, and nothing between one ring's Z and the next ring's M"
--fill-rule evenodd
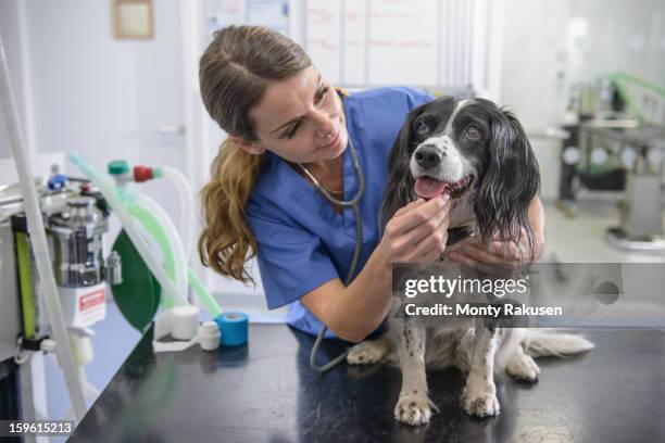
M253 26L217 31L199 76L208 112L228 134L202 191L203 263L249 281L246 263L255 254L267 305L291 303L291 326L316 334L323 322L326 337L363 340L388 313L391 263L428 264L444 251L447 195L405 205L382 238L377 219L392 143L406 114L431 97L410 88L348 96L297 43ZM352 199L359 180L351 143L365 179L363 242L354 279L344 287L356 241L353 212L325 200L309 175L334 197ZM532 206L542 238L540 202ZM473 244L451 258L504 261Z

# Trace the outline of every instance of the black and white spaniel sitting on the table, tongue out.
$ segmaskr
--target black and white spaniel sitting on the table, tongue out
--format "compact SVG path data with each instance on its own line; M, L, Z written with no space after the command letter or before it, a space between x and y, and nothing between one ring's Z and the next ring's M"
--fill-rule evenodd
M398 136L381 227L417 197L430 199L447 192L454 199L447 253L469 236L527 244L526 250L534 251L528 208L539 186L538 163L512 113L484 99L438 99L412 111ZM534 356L561 356L591 347L592 343L574 334L501 329L473 320L454 328L432 328L391 315L389 331L355 345L347 359L350 364L384 357L396 362L402 371L402 388L394 416L423 425L436 409L427 395L426 366L454 365L467 374L462 406L469 415L486 417L500 409L494 367L535 381L540 370Z

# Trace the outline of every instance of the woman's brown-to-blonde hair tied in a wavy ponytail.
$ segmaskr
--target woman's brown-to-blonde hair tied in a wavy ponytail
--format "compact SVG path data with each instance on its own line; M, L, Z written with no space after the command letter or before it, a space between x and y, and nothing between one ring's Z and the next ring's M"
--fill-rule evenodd
M302 48L262 26L229 26L214 34L199 63L201 98L210 116L227 134L256 140L250 110L273 81L312 65ZM256 240L247 226L244 206L261 172L263 155L251 154L226 139L211 165L211 180L201 191L203 231L199 255L205 266L253 281L247 260Z

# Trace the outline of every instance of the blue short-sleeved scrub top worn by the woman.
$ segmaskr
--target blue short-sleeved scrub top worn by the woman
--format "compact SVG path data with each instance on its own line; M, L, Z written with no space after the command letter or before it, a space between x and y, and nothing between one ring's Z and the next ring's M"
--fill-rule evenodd
M347 129L365 178L359 203L363 243L357 275L379 242L378 213L388 180L388 157L409 112L432 100L423 91L380 88L342 97ZM246 206L247 223L256 238L258 262L268 308L291 304L287 322L317 334L322 322L299 299L323 283L347 279L355 248L351 208L341 214L286 161L264 154L262 169ZM343 152L344 200L357 191L350 149ZM355 277L355 276L354 276ZM335 338L328 330L326 338Z

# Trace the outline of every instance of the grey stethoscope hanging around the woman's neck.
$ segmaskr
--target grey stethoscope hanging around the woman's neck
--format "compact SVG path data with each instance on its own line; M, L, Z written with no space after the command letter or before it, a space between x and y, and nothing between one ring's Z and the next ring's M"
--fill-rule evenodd
M306 167L302 165L302 163L298 163L298 166L305 173L305 175L312 180L316 190L331 204L342 206L343 208L351 207L353 210L353 217L355 218L355 249L353 250L353 257L351 258L351 266L349 267L349 274L347 275L347 280L344 286L349 286L351 279L353 278L353 273L355 271L355 266L357 265L357 257L360 256L361 246L363 243L363 223L360 215L360 210L357 207L357 202L363 197L363 192L365 190L365 178L363 177L363 172L360 167L360 163L357 161L357 153L355 152L355 147L353 145L353 140L351 140L351 135L349 134L349 149L351 150L351 159L353 161L353 169L355 169L355 176L357 177L357 191L355 195L351 200L339 200L336 199L328 192L326 188L324 188L318 180L308 170ZM349 350L344 351L337 357L335 357L329 363L317 366L315 358L316 353L318 352L318 347L324 338L324 334L328 330L327 326L323 326L318 336L316 336L316 341L314 342L314 346L312 347L312 353L310 354L310 366L317 372L325 372L327 370L332 369L335 366L339 365L344 358L347 358L347 354Z

